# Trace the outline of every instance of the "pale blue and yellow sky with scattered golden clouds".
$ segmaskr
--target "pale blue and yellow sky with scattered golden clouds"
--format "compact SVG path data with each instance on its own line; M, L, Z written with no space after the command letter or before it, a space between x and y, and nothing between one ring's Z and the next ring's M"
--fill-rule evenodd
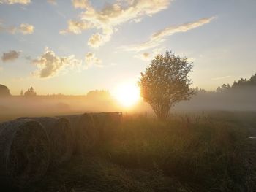
M192 87L256 72L255 0L0 0L0 84L83 95L136 83L165 50Z

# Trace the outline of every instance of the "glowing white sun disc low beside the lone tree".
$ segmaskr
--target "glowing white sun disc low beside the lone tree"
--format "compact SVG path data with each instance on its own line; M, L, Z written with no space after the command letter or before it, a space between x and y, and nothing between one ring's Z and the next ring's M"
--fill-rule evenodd
M113 96L124 107L132 107L140 100L140 89L136 83L121 83L113 91Z

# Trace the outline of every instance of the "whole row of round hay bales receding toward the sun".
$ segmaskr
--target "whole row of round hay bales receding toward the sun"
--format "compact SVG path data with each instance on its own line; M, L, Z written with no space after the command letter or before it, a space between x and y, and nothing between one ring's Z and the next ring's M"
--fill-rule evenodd
M96 142L114 137L120 123L120 112L0 123L0 184L28 186L39 180L50 164L62 164L73 151L87 153Z

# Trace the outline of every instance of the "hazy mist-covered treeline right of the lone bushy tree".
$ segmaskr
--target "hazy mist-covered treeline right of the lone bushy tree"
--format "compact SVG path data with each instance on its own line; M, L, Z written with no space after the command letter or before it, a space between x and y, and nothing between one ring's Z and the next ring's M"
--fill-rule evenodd
M176 105L177 111L255 111L256 110L256 74L249 80L242 78L233 85L223 84L215 91L196 88L197 94L189 101Z

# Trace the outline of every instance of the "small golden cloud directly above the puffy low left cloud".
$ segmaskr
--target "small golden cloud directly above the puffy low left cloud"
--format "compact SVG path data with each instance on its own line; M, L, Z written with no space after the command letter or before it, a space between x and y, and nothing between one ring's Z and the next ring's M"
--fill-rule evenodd
M60 34L81 34L83 30L91 28L91 23L81 20L69 20L68 27L60 31Z

